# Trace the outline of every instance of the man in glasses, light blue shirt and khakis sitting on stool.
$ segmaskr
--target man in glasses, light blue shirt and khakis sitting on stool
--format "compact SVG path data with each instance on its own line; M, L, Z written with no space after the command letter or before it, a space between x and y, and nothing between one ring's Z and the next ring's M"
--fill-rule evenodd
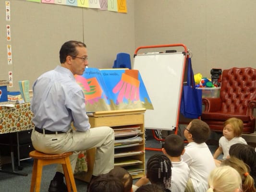
M61 66L42 74L33 84L31 110L35 129L31 140L37 151L47 154L73 152L75 168L79 151L96 147L93 176L114 168L114 132L110 127L90 129L85 96L74 75L82 75L88 66L87 48L78 41L65 42L60 50ZM76 130L73 130L71 123ZM50 182L49 192L66 192L62 166Z

